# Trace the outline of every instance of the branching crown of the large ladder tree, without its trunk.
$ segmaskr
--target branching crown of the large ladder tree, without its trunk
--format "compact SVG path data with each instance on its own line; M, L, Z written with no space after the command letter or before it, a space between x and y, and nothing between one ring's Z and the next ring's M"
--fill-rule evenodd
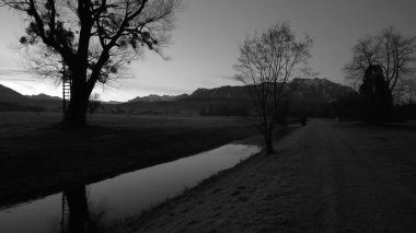
M116 74L145 47L161 54L169 42L166 32L173 28L173 11L181 5L178 0L2 2L26 12L28 23L21 44L43 42L50 49L45 57L57 53L69 67L74 66L72 61L85 60L84 69L93 80Z

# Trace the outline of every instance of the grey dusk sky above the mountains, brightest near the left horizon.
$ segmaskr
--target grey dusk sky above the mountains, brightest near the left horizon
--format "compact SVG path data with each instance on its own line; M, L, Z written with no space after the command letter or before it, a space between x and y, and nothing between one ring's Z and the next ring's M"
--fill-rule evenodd
M359 38L388 26L416 36L415 0L183 0L176 28L163 60L152 51L131 62L129 75L97 84L103 101L127 101L149 94L190 94L198 88L241 85L230 79L238 45L255 31L289 21L297 36L314 38L310 66L320 78L347 84L343 67ZM0 84L22 94L61 95L53 80L31 74L16 49L24 35L22 15L0 9Z

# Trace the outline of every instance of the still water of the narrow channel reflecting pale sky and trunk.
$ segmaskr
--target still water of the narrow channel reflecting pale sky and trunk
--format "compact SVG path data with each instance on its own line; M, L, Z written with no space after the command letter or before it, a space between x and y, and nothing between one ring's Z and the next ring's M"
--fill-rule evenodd
M0 209L0 232L83 232L85 222L100 213L106 222L138 213L258 151L256 145L227 144Z

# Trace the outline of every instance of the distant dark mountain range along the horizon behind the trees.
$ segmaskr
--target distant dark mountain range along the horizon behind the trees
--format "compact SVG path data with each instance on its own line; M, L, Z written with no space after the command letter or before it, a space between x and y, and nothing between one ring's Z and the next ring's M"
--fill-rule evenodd
M355 92L327 79L293 79L288 83L290 101L293 105L308 106L335 102L338 97ZM205 108L242 108L250 105L247 86L220 86L215 89L197 89L192 94L138 96L127 102L103 102L105 112L180 112L195 114ZM0 84L1 109L8 109L10 103L19 106L41 106L49 110L59 110L61 98L46 94L22 95ZM8 103L4 105L4 103Z

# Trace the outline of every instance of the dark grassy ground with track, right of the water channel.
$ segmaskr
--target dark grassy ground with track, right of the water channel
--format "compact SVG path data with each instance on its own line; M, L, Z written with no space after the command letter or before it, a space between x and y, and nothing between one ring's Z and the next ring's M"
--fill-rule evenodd
M128 232L416 232L415 127L314 120Z

